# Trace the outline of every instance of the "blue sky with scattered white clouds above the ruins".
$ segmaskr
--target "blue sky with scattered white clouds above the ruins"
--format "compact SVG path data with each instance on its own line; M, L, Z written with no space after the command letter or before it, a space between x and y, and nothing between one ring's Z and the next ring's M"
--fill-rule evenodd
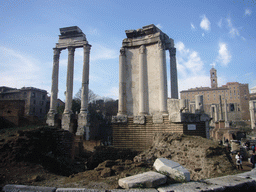
M59 28L78 26L92 45L89 88L117 99L118 57L125 30L149 24L174 39L179 91L210 86L212 65L219 86L234 81L248 83L250 89L256 86L256 1L240 0L1 1L0 86L32 86L50 93L52 48ZM81 87L82 61L82 49L76 49L74 95ZM62 51L62 100L66 68L67 51Z

